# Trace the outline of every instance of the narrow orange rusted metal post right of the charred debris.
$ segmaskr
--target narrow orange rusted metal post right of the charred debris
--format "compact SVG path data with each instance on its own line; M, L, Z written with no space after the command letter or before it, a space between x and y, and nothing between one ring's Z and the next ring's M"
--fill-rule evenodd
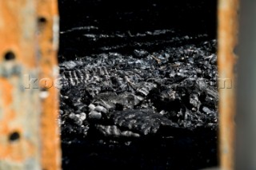
M218 0L218 75L232 88L219 89L219 159L222 170L234 169L234 47L237 44L238 0Z

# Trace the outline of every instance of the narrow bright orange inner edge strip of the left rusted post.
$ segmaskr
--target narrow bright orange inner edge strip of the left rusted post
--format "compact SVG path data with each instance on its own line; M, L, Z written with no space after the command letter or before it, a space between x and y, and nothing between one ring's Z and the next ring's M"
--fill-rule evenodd
M39 83L42 97L42 169L61 169L58 128L58 1L38 0Z

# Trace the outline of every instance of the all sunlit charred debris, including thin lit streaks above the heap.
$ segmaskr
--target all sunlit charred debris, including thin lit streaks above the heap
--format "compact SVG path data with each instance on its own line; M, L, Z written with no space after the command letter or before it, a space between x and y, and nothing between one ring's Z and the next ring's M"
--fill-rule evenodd
M97 29L86 26L61 33L73 36L80 31L92 44L122 41L71 59L65 53L59 56L62 138L102 136L118 142L175 137L198 128L216 131L215 39L207 34L178 36L174 30L94 33Z

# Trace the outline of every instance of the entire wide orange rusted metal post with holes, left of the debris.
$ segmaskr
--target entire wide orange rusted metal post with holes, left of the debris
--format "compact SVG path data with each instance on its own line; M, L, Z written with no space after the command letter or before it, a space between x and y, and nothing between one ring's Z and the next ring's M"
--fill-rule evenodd
M57 49L57 0L0 0L1 170L61 169Z

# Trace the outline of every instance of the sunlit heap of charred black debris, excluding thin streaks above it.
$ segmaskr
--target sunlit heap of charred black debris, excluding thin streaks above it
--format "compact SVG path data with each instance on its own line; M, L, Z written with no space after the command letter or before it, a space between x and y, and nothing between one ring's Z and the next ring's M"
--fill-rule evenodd
M153 53L134 49L132 55L100 53L62 62L63 123L67 119L84 134L95 123L144 135L157 132L160 125L215 129L215 45L212 40ZM136 124L147 128L138 130Z

